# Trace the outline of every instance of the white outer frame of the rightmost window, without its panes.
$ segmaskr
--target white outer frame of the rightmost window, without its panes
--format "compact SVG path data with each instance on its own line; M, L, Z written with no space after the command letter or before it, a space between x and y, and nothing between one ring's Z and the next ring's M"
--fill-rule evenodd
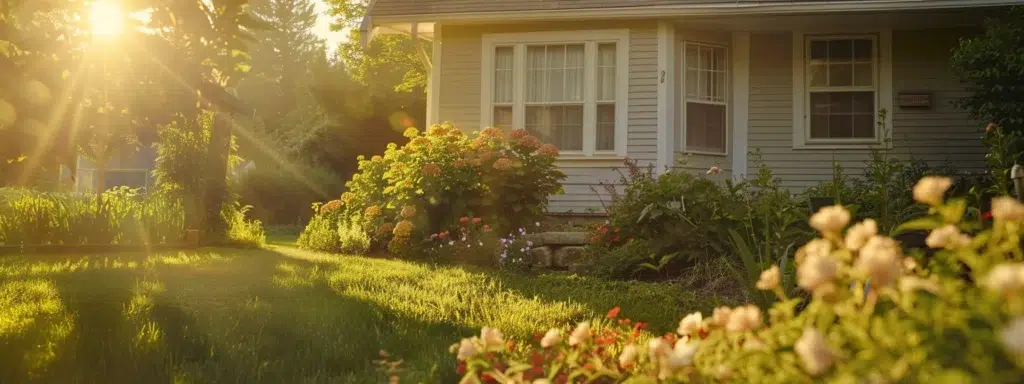
M874 99L876 112L885 110L886 131L882 132L876 117L873 138L811 138L810 88L807 84L807 57L810 42L815 39L874 40ZM854 87L850 87L854 88ZM818 30L799 31L793 34L793 147L795 150L862 150L892 138L893 132L893 74L892 29L874 30ZM883 136L885 133L885 136ZM891 140L889 141L891 144Z

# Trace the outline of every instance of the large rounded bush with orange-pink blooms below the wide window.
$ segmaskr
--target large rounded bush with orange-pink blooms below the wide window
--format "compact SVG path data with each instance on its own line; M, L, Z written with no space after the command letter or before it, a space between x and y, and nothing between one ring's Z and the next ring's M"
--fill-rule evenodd
M565 177L554 164L558 151L525 131L467 135L443 124L404 135L406 145L359 158L341 199L341 217L366 228L374 247L414 251L471 213L496 229L520 226L544 213ZM391 231L371 230L385 225Z

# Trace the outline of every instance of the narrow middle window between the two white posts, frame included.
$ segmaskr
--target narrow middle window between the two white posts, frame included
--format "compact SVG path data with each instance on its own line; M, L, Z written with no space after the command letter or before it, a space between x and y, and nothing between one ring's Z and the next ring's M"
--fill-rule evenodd
M725 154L728 60L724 47L683 44L683 121L686 152Z

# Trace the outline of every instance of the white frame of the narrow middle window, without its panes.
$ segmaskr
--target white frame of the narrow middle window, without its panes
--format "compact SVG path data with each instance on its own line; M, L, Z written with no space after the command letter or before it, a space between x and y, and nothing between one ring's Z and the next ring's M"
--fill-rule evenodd
M680 131L680 137L678 138L679 147L682 150L682 152L684 154L711 155L711 156L729 156L729 146L731 146L731 141L729 141L729 139L730 139L730 137L729 137L730 136L729 131L731 129L729 129L729 127L732 124L732 115L731 115L732 114L732 106L729 105L729 103L732 101L732 61L731 61L732 58L730 56L731 52L729 52L729 47L726 46L726 45L723 45L723 44L708 43L708 42L696 41L696 40L683 40L682 44L680 44L680 46L681 46L681 48L679 49L679 62L680 62L679 69L680 70L679 70L679 77L677 79L679 79L678 80L678 84L679 84L679 98L682 100L682 102L680 102L680 104L678 105L678 108L682 110L679 113L680 120L681 120L680 123L679 123L679 126L682 127L682 130ZM725 85L723 86L724 87L723 89L725 90L725 100L723 100L723 101L708 101L708 100L698 100L698 99L692 100L693 102L700 102L700 103L708 103L708 104L716 104L716 105L724 105L725 106L725 142L722 145L723 146L723 151L722 152L690 151L689 148L686 147L686 135L689 132L689 126L687 126L688 120L687 120L687 116L686 116L686 114L687 114L686 104L691 101L690 98L689 98L689 95L686 92L687 91L686 90L686 86L687 86L687 84L686 84L686 80L687 80L686 72L689 70L689 62L686 61L686 49L688 49L690 46L693 46L693 47L696 47L696 48L699 48L699 47L721 48L722 51L725 52L725 61L724 62L725 62L726 69L725 69Z

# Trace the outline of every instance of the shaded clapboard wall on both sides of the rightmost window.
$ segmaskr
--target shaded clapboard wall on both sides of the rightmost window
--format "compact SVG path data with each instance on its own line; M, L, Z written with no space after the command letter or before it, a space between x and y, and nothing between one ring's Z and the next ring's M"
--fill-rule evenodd
M949 70L950 49L971 31L962 29L896 30L892 35L893 97L901 91L931 92L927 110L901 109L894 101L892 154L933 166L984 170L981 126L953 106L965 95ZM782 184L801 191L831 178L838 161L847 175L863 174L868 150L794 148L793 35L753 33L750 65L749 146L760 150L764 165ZM757 172L755 157L749 173Z

